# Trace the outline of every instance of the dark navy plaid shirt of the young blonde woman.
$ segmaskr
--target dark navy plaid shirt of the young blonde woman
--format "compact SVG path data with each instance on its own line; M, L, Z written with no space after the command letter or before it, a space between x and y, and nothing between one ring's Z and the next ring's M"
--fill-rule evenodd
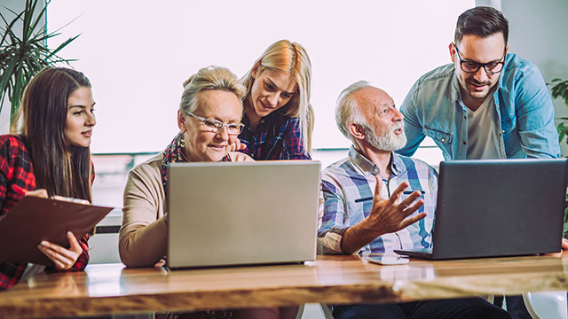
M241 150L256 160L269 159L312 159L304 152L305 144L300 128L300 119L272 112L264 116L256 131L250 128L246 114L242 116L245 125L239 139L247 148Z

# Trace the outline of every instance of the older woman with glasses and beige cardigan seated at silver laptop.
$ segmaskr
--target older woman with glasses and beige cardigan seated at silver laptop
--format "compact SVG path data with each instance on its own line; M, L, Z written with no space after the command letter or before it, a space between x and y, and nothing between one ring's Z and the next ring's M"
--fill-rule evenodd
M166 254L168 213L165 202L170 163L253 160L241 152L229 152L243 128L245 91L231 71L219 66L202 68L184 83L177 111L179 133L163 152L129 173L119 237L119 253L126 266L154 266L160 264ZM294 309L297 308L291 310ZM183 317L279 318L280 313L285 312L280 312L280 308L209 310L183 314Z

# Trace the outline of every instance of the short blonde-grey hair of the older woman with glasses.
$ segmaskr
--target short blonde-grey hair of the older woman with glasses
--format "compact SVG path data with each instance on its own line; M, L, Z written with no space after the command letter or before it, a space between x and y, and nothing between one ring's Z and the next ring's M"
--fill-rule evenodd
M184 93L181 95L179 109L185 113L193 113L197 107L197 94L201 91L219 89L233 93L242 102L247 90L239 82L237 76L223 66L207 66L201 68L184 82Z

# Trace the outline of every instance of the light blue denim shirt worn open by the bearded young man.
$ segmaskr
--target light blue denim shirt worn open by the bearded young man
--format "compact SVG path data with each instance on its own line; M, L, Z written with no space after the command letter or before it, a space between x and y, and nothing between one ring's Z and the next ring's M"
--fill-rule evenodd
M501 158L560 156L554 105L537 66L507 54L493 107L500 121ZM400 106L405 116L406 146L398 153L412 156L425 136L442 149L444 159L465 159L468 152L468 113L461 102L454 64L424 74Z

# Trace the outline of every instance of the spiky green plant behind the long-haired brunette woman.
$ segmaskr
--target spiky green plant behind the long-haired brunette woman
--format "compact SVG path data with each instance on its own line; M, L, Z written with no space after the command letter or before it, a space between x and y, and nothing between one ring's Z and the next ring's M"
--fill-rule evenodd
M26 0L24 10L20 13L4 6L6 10L15 15L11 20L0 13L0 18L4 21L4 27L0 27L2 35L0 39L0 112L5 97L8 97L11 103L10 122L12 126L20 107L23 89L29 80L45 66L58 62L68 65L70 61L74 61L60 58L57 53L79 35L67 39L55 49L47 46L47 40L59 35L59 29L47 33L42 18L49 1L45 2L45 5L43 3L41 0ZM20 26L21 35L17 35L16 30Z

